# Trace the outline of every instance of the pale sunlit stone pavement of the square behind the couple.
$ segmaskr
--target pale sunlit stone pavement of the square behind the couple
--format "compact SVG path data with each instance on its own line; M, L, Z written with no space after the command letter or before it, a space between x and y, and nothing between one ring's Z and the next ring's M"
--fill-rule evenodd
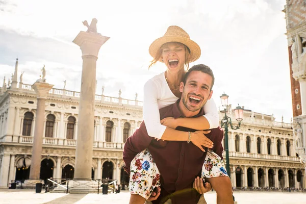
M306 204L306 193L288 192L234 192L238 204ZM0 190L1 204L72 204L72 203L129 203L130 194L122 191L119 194L65 194L65 193L35 193L34 190ZM205 194L208 204L216 203L215 192Z

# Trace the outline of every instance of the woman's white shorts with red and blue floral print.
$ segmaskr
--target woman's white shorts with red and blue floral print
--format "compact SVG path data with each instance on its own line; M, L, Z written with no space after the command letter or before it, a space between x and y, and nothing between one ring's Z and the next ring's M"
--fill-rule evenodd
M201 177L205 179L218 176L228 176L224 162L214 151L208 150ZM144 149L131 162L130 193L138 194L147 200L153 190L160 186L160 172L149 150Z

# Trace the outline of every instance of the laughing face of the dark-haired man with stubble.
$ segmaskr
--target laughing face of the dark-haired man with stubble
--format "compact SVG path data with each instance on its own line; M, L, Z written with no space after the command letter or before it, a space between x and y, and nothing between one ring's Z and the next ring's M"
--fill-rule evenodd
M201 71L192 71L184 86L180 84L182 101L187 110L195 112L201 109L212 97L213 91L210 91L213 78L207 73Z

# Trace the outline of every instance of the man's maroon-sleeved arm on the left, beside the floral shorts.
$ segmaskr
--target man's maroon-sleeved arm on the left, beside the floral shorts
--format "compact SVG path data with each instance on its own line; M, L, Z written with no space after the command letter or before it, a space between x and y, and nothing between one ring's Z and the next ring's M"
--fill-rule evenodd
M134 157L147 148L153 139L154 138L148 135L144 121L141 122L134 134L126 139L123 148L123 168L127 173L130 173L130 166Z

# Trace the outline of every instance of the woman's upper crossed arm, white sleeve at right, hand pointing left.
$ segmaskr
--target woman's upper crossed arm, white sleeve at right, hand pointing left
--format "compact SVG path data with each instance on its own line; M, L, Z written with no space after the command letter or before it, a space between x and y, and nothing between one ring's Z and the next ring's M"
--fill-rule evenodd
M194 130L208 130L219 126L219 113L215 101L211 98L205 104L205 115L197 118L164 118L161 123L167 127L176 128L177 126L188 127Z

